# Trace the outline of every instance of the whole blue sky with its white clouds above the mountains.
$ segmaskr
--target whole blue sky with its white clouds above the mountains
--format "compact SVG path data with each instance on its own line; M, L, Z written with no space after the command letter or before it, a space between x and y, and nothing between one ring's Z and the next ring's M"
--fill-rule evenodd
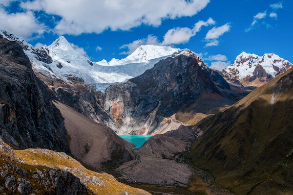
M191 49L214 66L228 65L241 51L293 62L292 0L1 1L0 28L32 45L64 35L92 61L124 58L140 44L155 43ZM194 30L199 21L205 23Z

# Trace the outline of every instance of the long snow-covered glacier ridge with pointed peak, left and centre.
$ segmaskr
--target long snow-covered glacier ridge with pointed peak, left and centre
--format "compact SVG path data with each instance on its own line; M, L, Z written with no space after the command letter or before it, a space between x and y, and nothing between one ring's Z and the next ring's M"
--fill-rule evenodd
M152 68L160 60L180 52L180 49L171 47L146 45L140 46L124 59L113 58L110 62L102 60L95 63L77 52L63 36L49 46L35 48L4 30L0 34L22 46L35 71L67 81L69 77L79 77L102 91L110 84L126 82Z

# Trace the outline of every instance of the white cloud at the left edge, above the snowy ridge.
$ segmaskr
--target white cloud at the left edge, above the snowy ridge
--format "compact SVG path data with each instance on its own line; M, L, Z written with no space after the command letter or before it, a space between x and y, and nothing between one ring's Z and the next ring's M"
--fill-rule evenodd
M7 13L0 7L0 27L17 36L30 38L32 34L42 34L44 24L40 24L31 11L21 13Z

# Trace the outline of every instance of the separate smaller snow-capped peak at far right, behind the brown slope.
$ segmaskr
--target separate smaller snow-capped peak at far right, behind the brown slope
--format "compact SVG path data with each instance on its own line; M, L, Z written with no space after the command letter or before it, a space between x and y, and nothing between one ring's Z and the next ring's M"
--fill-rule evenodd
M243 85L260 86L293 66L274 53L263 56L242 52L232 65L222 71L228 80L240 80Z

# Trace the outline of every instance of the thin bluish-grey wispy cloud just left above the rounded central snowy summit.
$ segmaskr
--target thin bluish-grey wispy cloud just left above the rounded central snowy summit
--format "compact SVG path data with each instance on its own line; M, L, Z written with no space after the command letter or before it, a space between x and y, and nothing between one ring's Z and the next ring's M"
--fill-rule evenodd
M142 45L161 45L160 42L158 41L158 38L153 35L148 35L144 39L139 39L135 40L132 43L129 44L124 44L123 46L120 47L120 49L127 49L127 51L123 51L120 54L131 54L135 49Z

